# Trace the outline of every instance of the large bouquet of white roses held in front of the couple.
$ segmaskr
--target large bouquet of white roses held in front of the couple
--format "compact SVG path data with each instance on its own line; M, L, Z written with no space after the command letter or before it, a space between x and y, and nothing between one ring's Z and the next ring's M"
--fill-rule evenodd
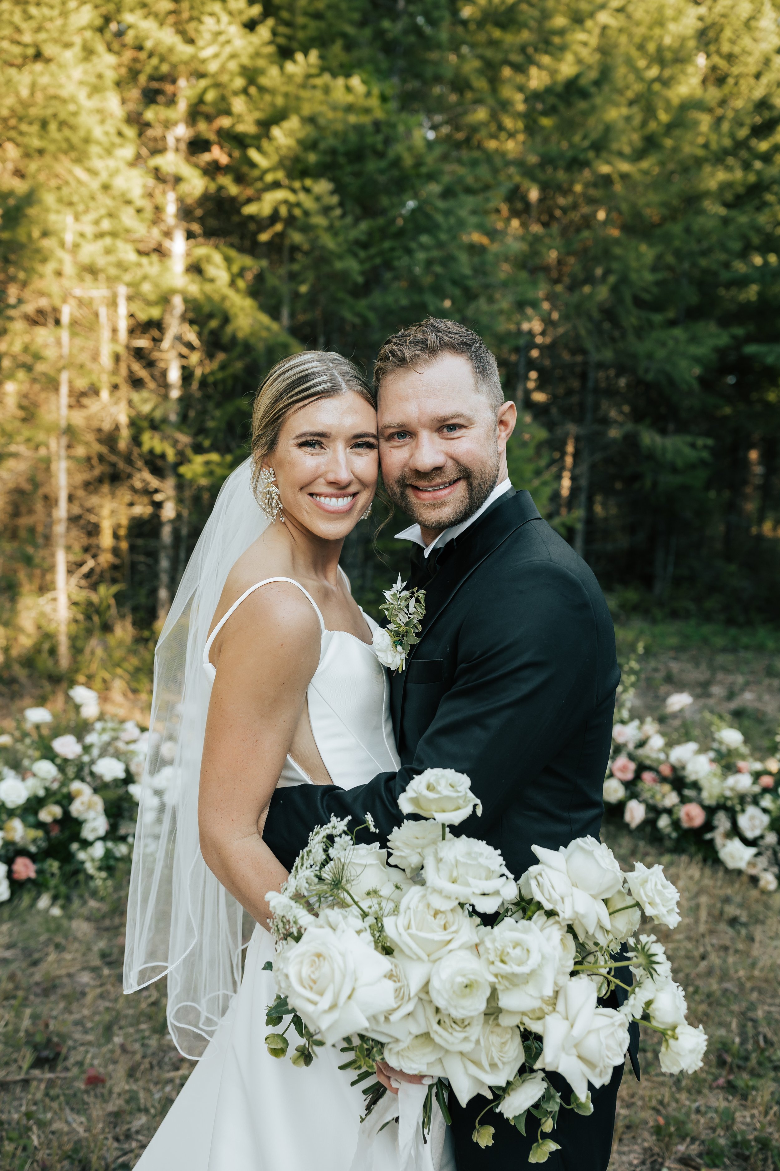
M430 1078L423 1131L435 1104L449 1121L450 1093L462 1105L482 1095L481 1146L493 1137L484 1115L502 1114L523 1135L531 1115L531 1163L559 1149L550 1136L560 1109L591 1114L588 1084L605 1086L622 1064L631 1020L662 1034L664 1071L699 1068L706 1036L686 1023L663 946L637 934L643 915L679 923L679 895L660 865L624 874L607 845L581 837L557 851L534 845L539 862L517 883L498 850L450 834L482 813L468 776L428 769L399 806L426 820L393 830L388 850L356 841L374 830L370 815L352 834L348 819L332 817L282 892L268 895L278 994L267 1022L279 1029L291 1018L267 1036L271 1054L288 1053L294 1026L295 1064L340 1042L354 1083L373 1078L380 1060ZM615 960L623 944L627 958ZM616 986L629 988L620 1009L600 1004ZM548 1081L553 1070L570 1101ZM364 1088L366 1115L385 1093L375 1081Z

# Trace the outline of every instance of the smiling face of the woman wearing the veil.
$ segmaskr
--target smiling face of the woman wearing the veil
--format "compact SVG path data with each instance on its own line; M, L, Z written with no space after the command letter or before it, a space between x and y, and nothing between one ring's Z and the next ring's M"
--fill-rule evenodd
M287 522L327 541L346 536L377 491L377 412L347 390L294 411L282 424L272 467Z

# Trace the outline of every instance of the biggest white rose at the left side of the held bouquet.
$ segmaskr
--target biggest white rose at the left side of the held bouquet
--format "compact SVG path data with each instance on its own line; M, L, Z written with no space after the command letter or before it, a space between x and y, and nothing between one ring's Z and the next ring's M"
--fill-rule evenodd
M389 970L370 937L343 924L308 927L275 961L279 991L327 1045L367 1032L368 1018L393 1007Z

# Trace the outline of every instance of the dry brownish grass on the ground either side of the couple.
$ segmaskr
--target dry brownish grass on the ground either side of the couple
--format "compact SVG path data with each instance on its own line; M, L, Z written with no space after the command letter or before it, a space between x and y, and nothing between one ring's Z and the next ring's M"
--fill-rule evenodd
M609 837L624 862L657 856L622 829ZM612 1167L776 1171L780 895L698 861L664 861L685 918L658 933L710 1052L695 1076L668 1078L644 1041L642 1083L623 1080ZM2 1171L132 1167L192 1068L167 1036L164 988L123 997L123 930L119 895L82 898L62 919L28 903L2 909ZM105 1082L85 1086L90 1068Z

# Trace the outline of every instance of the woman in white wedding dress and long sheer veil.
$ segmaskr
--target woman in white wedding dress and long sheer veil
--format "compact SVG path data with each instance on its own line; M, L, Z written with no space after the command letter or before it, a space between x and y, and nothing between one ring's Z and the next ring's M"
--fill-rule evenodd
M167 975L168 1028L200 1060L140 1171L352 1164L364 1097L343 1055L320 1048L299 1069L264 1045L264 896L287 872L257 826L276 786L351 788L399 767L377 624L338 563L378 475L374 396L356 368L320 351L279 362L257 392L251 457L222 487L163 629L124 987ZM396 1130L354 1171L398 1171ZM443 1124L436 1137L443 1171Z

